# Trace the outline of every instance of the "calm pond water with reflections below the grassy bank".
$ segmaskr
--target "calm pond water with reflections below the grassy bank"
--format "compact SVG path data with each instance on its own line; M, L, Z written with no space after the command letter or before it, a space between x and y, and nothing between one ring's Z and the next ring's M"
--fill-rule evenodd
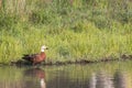
M132 62L0 67L0 88L132 88Z

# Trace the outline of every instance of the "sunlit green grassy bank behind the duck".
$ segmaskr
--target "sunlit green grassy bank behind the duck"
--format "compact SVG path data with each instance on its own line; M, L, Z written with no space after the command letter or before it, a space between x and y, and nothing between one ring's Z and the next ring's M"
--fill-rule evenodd
M21 3L21 4L20 4ZM130 0L3 0L0 63L46 51L46 63L132 54Z

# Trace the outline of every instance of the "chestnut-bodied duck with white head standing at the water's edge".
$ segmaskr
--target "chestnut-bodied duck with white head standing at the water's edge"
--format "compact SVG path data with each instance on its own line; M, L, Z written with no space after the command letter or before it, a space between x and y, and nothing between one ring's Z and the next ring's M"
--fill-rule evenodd
M43 61L45 61L46 58L46 54L45 54L45 50L47 50L47 47L45 45L43 45L41 47L41 53L40 54L30 54L30 55L24 55L22 57L22 59L25 59L30 63L32 63L32 65L36 65L36 64L40 64L42 63Z

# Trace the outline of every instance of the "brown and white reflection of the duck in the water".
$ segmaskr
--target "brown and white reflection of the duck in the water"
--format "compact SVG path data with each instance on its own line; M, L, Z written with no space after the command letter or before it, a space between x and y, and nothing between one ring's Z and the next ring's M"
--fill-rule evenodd
M24 75L30 77L29 80L26 80L25 86L35 87L35 88L46 88L45 84L45 72L41 68L30 68L24 72ZM37 80L37 81L36 81ZM40 81L40 84L38 84Z

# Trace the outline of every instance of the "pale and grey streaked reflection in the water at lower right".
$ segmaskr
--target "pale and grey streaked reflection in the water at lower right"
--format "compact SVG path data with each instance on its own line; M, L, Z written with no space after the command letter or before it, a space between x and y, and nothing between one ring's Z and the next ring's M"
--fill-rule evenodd
M128 88L127 73L118 70L113 78L105 73L92 74L89 80L89 88Z

